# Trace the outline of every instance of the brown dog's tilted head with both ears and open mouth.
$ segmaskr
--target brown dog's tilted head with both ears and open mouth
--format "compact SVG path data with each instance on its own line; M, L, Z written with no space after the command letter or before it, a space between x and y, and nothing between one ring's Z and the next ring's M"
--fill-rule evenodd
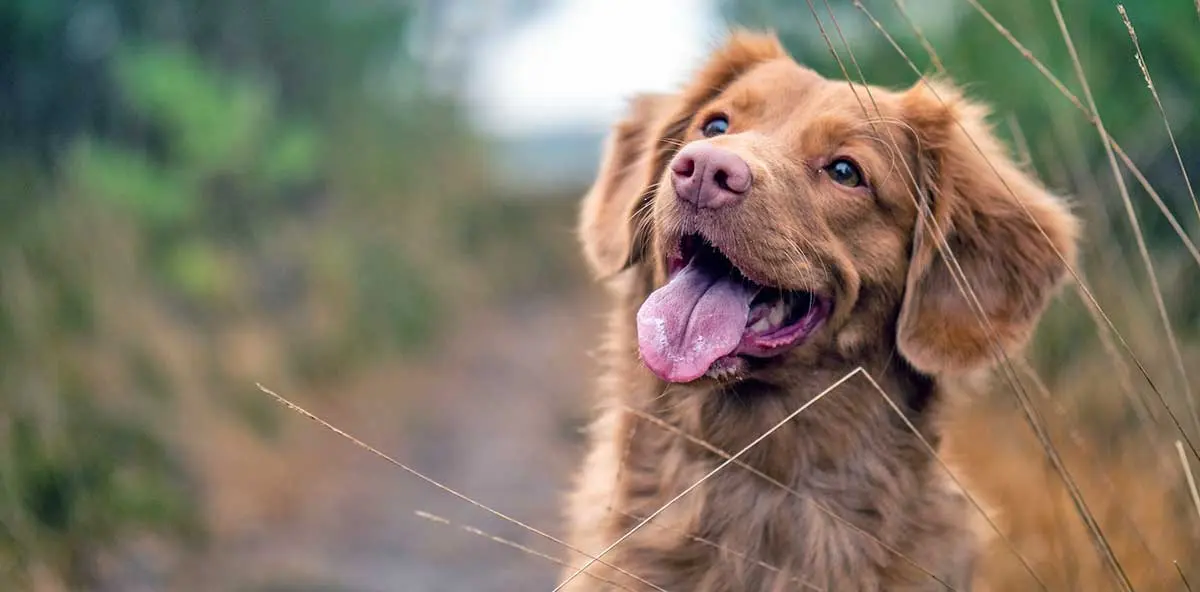
M985 114L948 84L852 86L734 34L679 94L634 100L584 253L598 276L653 277L638 346L665 381L871 343L928 375L984 366L1030 337L1078 226Z

